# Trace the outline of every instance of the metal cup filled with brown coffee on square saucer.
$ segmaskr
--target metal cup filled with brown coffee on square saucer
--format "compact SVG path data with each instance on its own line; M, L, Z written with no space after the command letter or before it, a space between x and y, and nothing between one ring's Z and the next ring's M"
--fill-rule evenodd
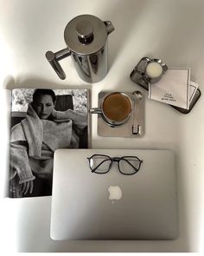
M127 121L131 116L131 100L128 95L114 92L106 95L100 108L91 108L91 114L99 114L111 126L118 126Z

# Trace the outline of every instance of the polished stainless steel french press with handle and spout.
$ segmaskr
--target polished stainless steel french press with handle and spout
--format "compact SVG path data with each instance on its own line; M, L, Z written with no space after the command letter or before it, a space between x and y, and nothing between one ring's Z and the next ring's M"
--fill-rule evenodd
M60 61L71 56L75 69L85 82L99 82L108 72L107 37L114 27L110 21L97 16L74 17L64 31L67 48L57 52L47 51L46 57L61 79L66 75Z

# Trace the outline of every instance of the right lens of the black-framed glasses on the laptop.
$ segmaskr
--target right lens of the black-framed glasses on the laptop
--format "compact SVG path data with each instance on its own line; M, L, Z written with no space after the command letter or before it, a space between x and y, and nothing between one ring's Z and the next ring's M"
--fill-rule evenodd
M123 174L135 174L137 170L139 170L141 161L139 161L136 157L126 156L121 158L119 161L119 169Z

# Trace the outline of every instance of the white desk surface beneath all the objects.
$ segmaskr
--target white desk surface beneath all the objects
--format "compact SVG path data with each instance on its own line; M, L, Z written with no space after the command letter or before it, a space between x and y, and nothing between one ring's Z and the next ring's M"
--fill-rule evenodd
M162 58L169 67L191 68L191 79L204 91L204 2L201 0L0 0L1 82L1 251L3 252L203 252L204 98L188 115L145 101L142 139L97 135L92 116L92 148L168 148L175 151L180 234L173 241L59 241L49 237L51 197L3 198L8 162L8 113L4 89L87 87L92 106L100 90L139 89L129 75L143 56ZM48 49L65 47L63 31L80 14L111 20L109 73L99 83L82 82L71 58L61 61L61 81L45 59ZM6 104L7 103L7 104ZM9 106L8 106L9 107Z

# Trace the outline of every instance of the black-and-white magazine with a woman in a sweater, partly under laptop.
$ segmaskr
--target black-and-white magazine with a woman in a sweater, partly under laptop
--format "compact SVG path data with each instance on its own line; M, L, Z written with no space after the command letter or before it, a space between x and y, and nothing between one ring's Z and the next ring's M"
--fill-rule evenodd
M88 89L13 89L11 198L52 195L54 151L88 148Z

